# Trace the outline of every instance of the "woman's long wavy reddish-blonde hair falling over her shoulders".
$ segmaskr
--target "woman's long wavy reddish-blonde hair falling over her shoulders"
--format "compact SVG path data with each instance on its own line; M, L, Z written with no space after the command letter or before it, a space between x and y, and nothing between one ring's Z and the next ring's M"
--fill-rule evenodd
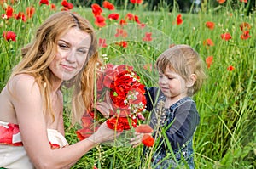
M34 40L21 49L23 59L15 66L11 76L25 73L35 78L44 99L44 114L51 115L54 121L55 115L49 95L51 89L49 64L57 54L58 40L73 27L78 27L81 31L90 34L91 37L89 54L87 55L84 69L69 82L75 88L72 101L72 122L74 124L80 120L84 110L90 110L90 103L93 100L96 64L100 63L96 35L88 20L79 16L79 14L73 14L68 11L61 11L51 15L38 27Z

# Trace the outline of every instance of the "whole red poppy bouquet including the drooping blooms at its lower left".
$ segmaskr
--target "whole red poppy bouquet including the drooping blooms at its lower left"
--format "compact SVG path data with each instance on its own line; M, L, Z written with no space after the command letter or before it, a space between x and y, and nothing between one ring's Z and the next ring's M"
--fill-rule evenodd
M108 118L96 109L84 113L78 138L88 138L106 120L108 127L118 132L137 127L137 121L144 120L143 112L146 111L144 87L132 66L105 65L96 81L96 101L106 102L108 93L113 109L109 110Z

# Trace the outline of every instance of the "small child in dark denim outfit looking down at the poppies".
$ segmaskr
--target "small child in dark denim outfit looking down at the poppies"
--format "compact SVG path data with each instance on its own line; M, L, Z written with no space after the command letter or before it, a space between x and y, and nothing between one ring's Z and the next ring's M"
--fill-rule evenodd
M159 87L149 87L146 94L156 144L152 166L194 168L192 140L200 116L191 97L206 78L203 62L193 48L176 45L160 54L156 66Z

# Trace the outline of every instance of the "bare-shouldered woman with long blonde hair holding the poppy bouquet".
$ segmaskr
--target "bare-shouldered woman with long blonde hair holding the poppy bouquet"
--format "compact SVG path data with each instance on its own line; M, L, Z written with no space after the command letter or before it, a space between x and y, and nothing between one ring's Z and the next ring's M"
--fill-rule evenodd
M103 123L79 143L64 138L61 84L74 86L74 124L91 108L96 43L90 22L78 14L59 12L39 26L0 95L0 167L69 168L115 137Z

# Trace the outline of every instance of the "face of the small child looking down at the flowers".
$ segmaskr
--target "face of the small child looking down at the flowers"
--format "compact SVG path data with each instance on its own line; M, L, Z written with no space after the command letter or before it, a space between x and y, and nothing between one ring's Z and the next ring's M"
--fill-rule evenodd
M186 87L185 80L168 67L164 73L159 71L158 84L167 98L181 99L187 96L188 87Z

